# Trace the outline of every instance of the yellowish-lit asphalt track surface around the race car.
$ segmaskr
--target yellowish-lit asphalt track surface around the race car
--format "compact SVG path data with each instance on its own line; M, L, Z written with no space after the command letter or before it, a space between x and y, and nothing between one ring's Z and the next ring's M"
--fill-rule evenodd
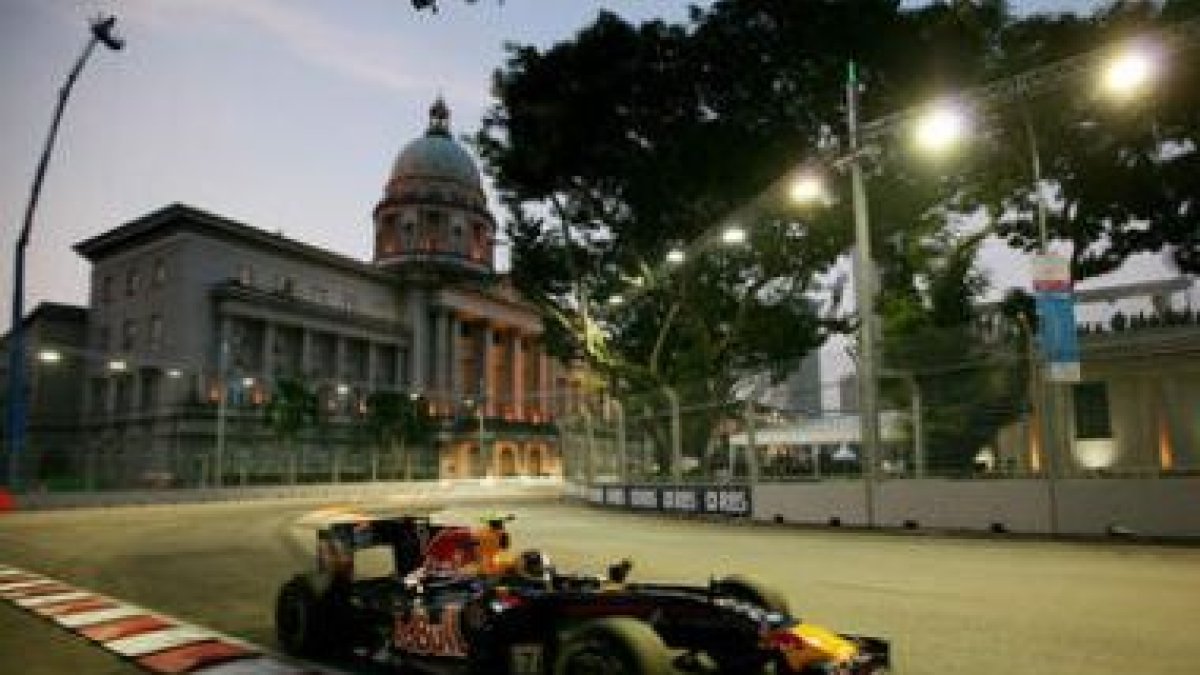
M398 512L395 502L272 502L0 515L0 565L122 598L274 649L272 604L311 565L325 507ZM749 573L793 610L886 637L904 674L1200 671L1200 548L724 525L552 502L462 504L517 515L518 549L563 569L618 557L635 579L703 584ZM314 518L314 514L317 516ZM324 514L324 515L322 515ZM0 673L138 673L119 658L0 604Z

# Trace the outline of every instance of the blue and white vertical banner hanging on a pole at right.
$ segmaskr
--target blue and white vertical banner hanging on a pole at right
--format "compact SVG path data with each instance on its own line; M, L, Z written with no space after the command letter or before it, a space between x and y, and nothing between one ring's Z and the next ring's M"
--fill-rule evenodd
M1079 335L1070 262L1062 256L1033 258L1033 291L1038 310L1038 341L1050 382L1079 382Z

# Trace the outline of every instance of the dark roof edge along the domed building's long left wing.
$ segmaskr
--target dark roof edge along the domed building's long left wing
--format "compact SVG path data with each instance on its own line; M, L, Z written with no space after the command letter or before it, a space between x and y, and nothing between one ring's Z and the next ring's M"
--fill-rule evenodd
M288 239L282 234L270 233L244 222L230 220L224 216L178 202L126 222L125 225L120 225L108 232L103 232L96 237L79 241L73 246L73 249L89 262L96 262L114 252L121 251L127 246L167 237L176 232L196 232L208 235L223 235L266 249L282 250L293 256L308 258L318 263L361 274L364 276L370 276L372 279L392 279L391 275L376 269L367 262L343 256L341 253L335 253L325 249L318 249L311 244L304 244L294 239Z

